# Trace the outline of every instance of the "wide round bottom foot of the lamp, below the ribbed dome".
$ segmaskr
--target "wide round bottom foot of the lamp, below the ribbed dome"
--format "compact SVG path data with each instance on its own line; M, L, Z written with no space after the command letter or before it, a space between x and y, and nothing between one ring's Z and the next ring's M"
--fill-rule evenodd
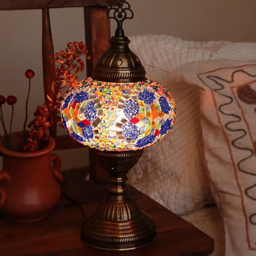
M156 237L153 219L141 214L125 221L106 221L89 215L82 225L82 240L88 245L103 250L134 250L152 242Z

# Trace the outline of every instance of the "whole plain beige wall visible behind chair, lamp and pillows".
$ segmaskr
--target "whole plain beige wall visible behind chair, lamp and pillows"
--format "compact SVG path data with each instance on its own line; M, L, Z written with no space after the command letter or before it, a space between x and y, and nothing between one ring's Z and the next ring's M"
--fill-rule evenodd
M127 35L168 34L194 41L256 41L256 0L130 0L130 3L135 15L124 24ZM84 41L82 8L51 9L50 17L55 51L64 49L69 41ZM111 24L113 34L115 25ZM0 94L18 97L13 130L21 130L27 69L35 71L29 119L33 118L35 107L43 103L41 11L0 11L0 31ZM83 77L86 77L85 72L80 74L80 78ZM4 112L8 119L10 108L7 105ZM64 131L61 129L61 132ZM63 169L88 165L86 148L59 154Z

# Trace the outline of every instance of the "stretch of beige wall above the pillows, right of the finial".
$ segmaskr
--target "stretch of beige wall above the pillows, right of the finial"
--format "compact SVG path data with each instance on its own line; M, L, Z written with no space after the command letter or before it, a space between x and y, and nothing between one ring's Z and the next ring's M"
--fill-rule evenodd
M192 41L256 41L255 0L130 0L127 35L168 34ZM158 4L155 4L155 3Z

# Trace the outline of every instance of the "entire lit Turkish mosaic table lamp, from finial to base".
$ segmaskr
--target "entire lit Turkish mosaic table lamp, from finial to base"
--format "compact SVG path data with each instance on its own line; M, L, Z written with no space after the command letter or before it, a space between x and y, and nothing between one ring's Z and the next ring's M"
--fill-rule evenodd
M100 249L131 250L152 242L156 231L153 219L129 197L126 174L146 146L173 128L176 107L160 83L145 77L139 58L128 47L122 23L133 18L129 3L111 6L107 17L118 24L111 48L99 59L93 77L66 94L61 116L67 132L93 148L110 175L107 197L82 225L83 241Z

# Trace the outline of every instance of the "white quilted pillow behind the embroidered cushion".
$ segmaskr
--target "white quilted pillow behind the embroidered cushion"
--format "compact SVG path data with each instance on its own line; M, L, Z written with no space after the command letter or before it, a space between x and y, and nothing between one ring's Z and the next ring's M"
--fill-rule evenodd
M196 89L177 88L171 71L200 60L256 59L256 43L190 42L167 35L129 39L146 76L165 86L177 104L174 129L162 142L144 150L129 173L129 183L178 215L191 213L213 203L202 161L199 98Z

